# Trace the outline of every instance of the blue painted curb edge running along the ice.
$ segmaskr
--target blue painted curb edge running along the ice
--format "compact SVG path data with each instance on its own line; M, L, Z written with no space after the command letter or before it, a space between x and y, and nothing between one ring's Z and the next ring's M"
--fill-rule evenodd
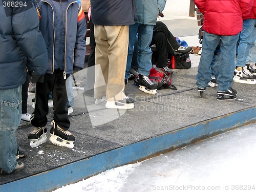
M256 122L256 106L202 121L47 172L0 185L0 191L50 191L124 164L141 161L189 143Z

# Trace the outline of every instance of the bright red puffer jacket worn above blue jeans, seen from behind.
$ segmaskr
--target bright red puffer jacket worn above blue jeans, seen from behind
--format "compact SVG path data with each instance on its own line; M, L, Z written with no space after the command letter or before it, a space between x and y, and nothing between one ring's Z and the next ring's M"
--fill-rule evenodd
M254 0L195 0L204 14L203 29L216 35L236 35L243 29L243 18L252 8Z

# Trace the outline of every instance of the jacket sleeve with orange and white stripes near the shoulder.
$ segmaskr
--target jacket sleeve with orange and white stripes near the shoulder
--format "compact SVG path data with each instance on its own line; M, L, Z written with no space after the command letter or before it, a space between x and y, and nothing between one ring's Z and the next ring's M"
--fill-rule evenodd
M84 68L84 58L86 57L86 40L84 39L84 36L86 36L86 30L86 18L81 5L79 5L74 67L80 67L82 69Z

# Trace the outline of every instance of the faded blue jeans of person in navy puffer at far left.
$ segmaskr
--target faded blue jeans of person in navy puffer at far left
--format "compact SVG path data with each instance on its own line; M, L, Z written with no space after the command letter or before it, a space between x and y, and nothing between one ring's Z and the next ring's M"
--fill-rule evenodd
M13 172L17 165L16 131L22 117L22 85L0 90L0 169Z

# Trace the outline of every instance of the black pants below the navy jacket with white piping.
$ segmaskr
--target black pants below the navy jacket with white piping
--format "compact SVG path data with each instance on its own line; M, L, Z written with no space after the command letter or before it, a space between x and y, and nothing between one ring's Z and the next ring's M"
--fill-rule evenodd
M69 76L67 74L67 78ZM33 126L45 126L47 124L47 114L49 113L48 99L52 91L54 106L53 120L63 130L66 131L69 129L70 121L68 118L66 80L63 78L63 70L58 69L54 70L53 74L45 74L44 82L36 82L35 111L31 119Z

